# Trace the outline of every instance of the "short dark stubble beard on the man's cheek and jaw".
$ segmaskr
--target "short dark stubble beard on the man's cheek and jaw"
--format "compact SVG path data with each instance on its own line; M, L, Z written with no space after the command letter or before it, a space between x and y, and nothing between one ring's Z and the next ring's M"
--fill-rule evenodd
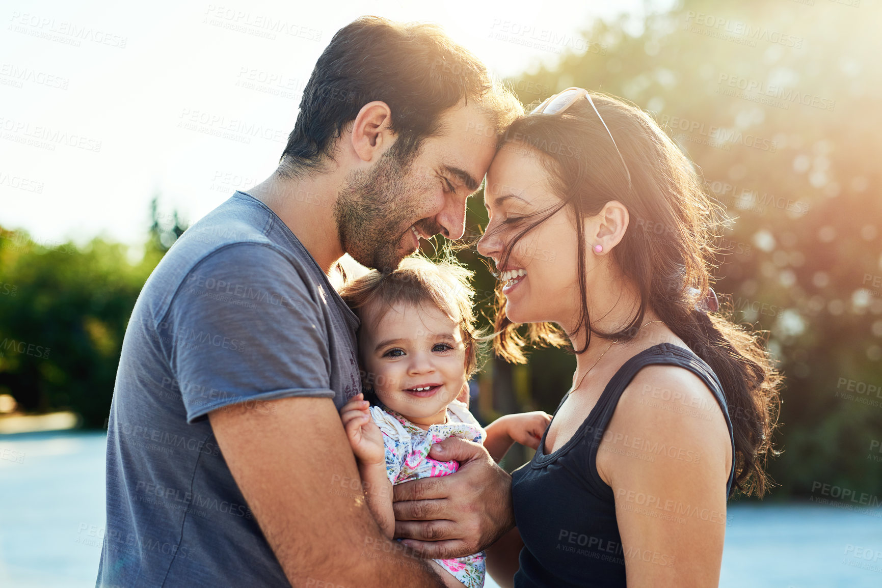
M401 236L409 231L420 186L406 182L413 159L386 152L370 171L352 171L334 203L333 215L343 251L364 266L391 272L407 253Z

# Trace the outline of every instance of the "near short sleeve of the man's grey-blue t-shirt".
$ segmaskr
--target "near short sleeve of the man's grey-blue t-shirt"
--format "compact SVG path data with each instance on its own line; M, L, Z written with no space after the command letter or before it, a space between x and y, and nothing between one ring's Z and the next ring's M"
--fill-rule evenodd
M333 398L325 318L303 279L259 243L214 251L187 274L158 328L188 422L250 401Z

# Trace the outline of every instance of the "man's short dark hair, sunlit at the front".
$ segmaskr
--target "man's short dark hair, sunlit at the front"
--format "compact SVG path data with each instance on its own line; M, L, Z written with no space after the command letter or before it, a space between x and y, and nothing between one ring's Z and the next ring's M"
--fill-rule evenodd
M397 135L392 150L404 161L415 156L423 139L444 131L440 115L462 100L474 102L490 119L495 134L476 132L476 138L494 146L523 112L513 93L440 26L362 17L337 31L318 58L280 173L302 175L333 160L334 140L372 100L391 108Z

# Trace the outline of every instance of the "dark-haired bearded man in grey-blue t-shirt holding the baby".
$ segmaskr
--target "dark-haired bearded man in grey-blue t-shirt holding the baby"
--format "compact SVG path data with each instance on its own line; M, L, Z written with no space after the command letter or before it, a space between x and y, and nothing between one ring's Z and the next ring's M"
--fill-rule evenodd
M443 586L385 540L337 410L361 391L358 319L329 274L459 239L520 105L435 26L363 18L319 57L276 172L186 231L138 297L108 427L102 586ZM438 454L440 455L440 454ZM396 490L422 555L513 525L480 446Z

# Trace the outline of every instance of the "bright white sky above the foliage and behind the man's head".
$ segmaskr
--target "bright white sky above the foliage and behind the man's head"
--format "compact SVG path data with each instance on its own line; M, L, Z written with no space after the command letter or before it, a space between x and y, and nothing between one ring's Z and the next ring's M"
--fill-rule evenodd
M506 77L584 47L579 29L595 17L643 10L642 0L542 5L4 3L0 226L40 242L139 243L155 193L161 212L198 220L273 172L316 59L363 14L437 22Z

